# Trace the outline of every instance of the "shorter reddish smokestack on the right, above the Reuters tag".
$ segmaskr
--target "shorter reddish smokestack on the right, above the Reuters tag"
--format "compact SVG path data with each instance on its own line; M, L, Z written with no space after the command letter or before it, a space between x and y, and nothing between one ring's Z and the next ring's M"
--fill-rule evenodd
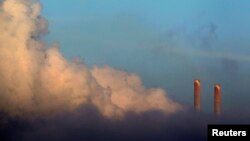
M221 103L221 86L220 84L215 84L214 86L214 113L216 115L220 114L220 103Z

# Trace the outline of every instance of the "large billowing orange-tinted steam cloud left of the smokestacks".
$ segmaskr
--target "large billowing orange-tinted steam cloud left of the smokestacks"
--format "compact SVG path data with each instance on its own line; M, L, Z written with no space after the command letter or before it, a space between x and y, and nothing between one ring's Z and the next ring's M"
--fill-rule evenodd
M46 48L39 40L47 23L38 2L0 4L0 112L37 117L93 105L103 116L116 118L129 111L182 108L164 90L144 88L136 74L109 66L89 69L65 60L57 46Z

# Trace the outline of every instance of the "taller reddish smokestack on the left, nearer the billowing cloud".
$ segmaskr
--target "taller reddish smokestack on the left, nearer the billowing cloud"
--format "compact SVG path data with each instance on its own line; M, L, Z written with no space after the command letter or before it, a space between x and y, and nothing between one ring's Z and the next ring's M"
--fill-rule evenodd
M194 109L197 112L201 110L200 87L200 80L194 80Z

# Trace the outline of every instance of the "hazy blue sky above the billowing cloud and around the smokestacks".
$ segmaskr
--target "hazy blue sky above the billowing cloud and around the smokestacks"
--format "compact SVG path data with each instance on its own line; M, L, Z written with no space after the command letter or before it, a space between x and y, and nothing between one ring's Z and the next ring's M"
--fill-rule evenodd
M221 83L223 111L250 112L250 2L243 0L42 0L49 43L67 58L139 74L146 86L193 104L193 79L212 112ZM240 90L238 90L240 89ZM239 101L239 102L235 102ZM241 109L241 110L239 110Z

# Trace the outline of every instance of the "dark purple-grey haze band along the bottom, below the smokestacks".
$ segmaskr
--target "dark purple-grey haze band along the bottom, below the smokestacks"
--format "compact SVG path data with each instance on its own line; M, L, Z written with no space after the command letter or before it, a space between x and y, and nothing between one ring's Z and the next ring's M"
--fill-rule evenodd
M88 107L50 119L8 119L0 127L2 141L202 141L207 125L247 123L249 118L215 116L192 110L165 115L157 111L128 113L124 119L103 118Z

